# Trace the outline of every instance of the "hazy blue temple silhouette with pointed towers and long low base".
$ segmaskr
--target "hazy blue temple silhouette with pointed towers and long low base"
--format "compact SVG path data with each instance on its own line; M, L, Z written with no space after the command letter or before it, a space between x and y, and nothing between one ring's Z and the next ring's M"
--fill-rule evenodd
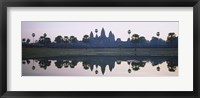
M169 36L169 35L168 35ZM62 39L62 36L59 36ZM46 38L50 40L49 38ZM63 38L64 39L64 38ZM104 28L102 28L100 35L90 32L86 42L74 39L72 41L65 42L64 40L57 42L45 43L45 39L34 44L23 43L24 47L52 47L52 48L148 48L148 47L178 47L178 37L172 36L170 40L165 41L161 38L152 37L152 39L146 40L145 37L138 35L138 40L133 38L127 38L127 41L122 41L120 38L115 40L115 35L112 31L106 36Z

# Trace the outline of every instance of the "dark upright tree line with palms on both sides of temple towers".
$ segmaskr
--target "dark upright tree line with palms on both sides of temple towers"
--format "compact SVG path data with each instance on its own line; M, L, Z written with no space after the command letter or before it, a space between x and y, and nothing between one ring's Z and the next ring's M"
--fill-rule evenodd
M92 32L91 32L92 33ZM95 29L95 33L97 36L98 30ZM34 40L35 37L35 33L32 33L32 37L33 37L33 43L30 43L30 39L27 38L23 38L22 39L22 45L23 46L31 46L31 47L38 47L38 46L54 46L54 47L62 47L62 46L66 46L68 45L68 47L90 47L90 46L98 46L98 43L101 42L101 44L108 44L111 43L110 45L113 47L122 47L123 45L125 46L130 46L131 44L132 46L148 46L148 45L154 45L154 46L161 46L161 45L166 45L168 47L173 46L173 47L177 47L178 46L178 37L176 36L176 34L174 32L170 32L168 33L167 39L166 41L161 39L160 36L160 32L156 33L156 37L152 37L152 39L150 41L146 40L146 38L144 36L140 36L139 34L132 34L131 35L131 30L128 30L127 33L129 34L129 38L127 39L127 41L123 42L121 41L120 38L117 38L114 42L109 42L106 40L109 40L109 38L107 39L101 39L99 38L95 38L95 37L91 37L87 34L83 35L82 40L79 41L77 39L77 37L75 36L61 36L58 35L56 36L53 40L49 37L47 37L47 34L44 33L42 36L39 37L38 40ZM87 45L88 44L88 45ZM103 45L101 45L103 46ZM67 47L67 46L66 46Z

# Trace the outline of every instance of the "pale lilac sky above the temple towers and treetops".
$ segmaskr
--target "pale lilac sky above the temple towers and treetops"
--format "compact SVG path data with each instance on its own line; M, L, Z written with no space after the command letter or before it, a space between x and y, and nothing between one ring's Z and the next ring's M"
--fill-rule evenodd
M54 41L55 37L61 36L75 36L78 40L82 40L84 35L90 35L92 31L94 36L95 29L98 29L98 36L104 28L106 36L110 31L115 35L115 39L121 38L122 41L126 41L129 38L128 30L131 30L132 34L139 34L144 36L147 40L151 40L153 36L156 36L157 32L160 32L160 38L167 39L168 33L174 32L177 36L179 33L179 22L177 21L163 21L163 22L142 22L142 21L22 21L21 32L22 38L29 38L33 42L32 33L35 33L34 40L38 40L44 33L47 37Z

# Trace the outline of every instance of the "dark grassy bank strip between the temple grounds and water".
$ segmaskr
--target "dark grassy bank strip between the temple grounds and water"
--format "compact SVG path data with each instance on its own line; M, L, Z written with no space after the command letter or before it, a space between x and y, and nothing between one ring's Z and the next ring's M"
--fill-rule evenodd
M22 58L55 56L178 56L177 48L22 48Z

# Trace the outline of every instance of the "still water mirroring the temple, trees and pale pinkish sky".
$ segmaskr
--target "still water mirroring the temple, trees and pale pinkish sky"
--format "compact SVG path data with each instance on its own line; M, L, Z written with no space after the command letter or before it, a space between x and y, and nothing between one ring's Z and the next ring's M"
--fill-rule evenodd
M22 76L178 76L178 57L31 58L22 60Z

